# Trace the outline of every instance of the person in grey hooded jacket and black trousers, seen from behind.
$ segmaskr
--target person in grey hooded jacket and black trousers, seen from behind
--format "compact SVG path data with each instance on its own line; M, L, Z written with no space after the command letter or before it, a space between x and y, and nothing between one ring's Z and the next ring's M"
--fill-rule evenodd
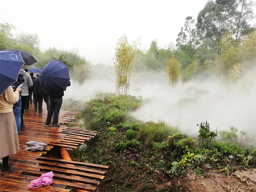
M26 108L27 103L29 104L29 94L28 94L28 88L31 87L33 85L32 79L29 76L29 74L25 71L25 69L20 70L21 74L23 74L23 78L24 78L24 82L23 82L23 87L22 87L22 95L21 95L21 99L22 99L22 107L21 107L21 124L20 124L20 129L25 129L25 125L23 123L23 114Z

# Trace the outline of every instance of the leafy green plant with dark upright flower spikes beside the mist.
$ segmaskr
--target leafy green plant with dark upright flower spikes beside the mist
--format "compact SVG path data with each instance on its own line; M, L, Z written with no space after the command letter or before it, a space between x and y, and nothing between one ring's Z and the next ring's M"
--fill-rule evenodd
M215 137L217 137L217 130L210 131L210 125L205 122L201 122L201 124L197 124L199 127L199 135L198 135L198 142L201 147L209 147L209 144L213 141Z

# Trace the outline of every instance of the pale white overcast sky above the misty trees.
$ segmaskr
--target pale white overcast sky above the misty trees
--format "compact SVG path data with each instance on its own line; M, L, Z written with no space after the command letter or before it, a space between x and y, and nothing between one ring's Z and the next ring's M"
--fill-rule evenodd
M38 34L41 50L79 49L92 64L111 64L118 39L141 36L141 49L176 44L187 16L196 19L208 0L0 0L0 23L13 34Z

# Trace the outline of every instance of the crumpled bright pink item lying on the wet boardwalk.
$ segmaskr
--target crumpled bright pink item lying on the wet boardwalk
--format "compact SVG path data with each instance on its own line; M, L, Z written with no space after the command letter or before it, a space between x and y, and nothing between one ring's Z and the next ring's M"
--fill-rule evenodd
M29 189L42 187L42 186L48 186L53 183L53 172L48 172L42 174L40 177L37 177L37 179L31 181L31 184L28 184Z

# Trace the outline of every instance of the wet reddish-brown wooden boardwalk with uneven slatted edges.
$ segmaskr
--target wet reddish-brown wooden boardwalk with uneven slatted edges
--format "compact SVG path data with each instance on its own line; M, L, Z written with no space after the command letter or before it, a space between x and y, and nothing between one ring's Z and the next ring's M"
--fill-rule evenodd
M43 103L45 104L45 103ZM15 155L10 155L9 163L15 165L15 170L0 176L0 191L58 191L68 192L71 189L80 191L96 191L97 186L109 166L68 161L63 159L44 157L52 148L59 146L75 149L89 139L99 135L99 132L87 131L80 128L66 127L64 124L75 121L73 116L79 112L60 110L60 128L45 127L47 116L46 106L43 105L42 114L34 111L34 105L24 112L25 129L20 131L19 147ZM28 151L24 148L26 142L37 141L47 145L43 151ZM6 144L8 145L8 144ZM53 183L34 189L28 189L30 181L37 179L43 173L53 171Z

